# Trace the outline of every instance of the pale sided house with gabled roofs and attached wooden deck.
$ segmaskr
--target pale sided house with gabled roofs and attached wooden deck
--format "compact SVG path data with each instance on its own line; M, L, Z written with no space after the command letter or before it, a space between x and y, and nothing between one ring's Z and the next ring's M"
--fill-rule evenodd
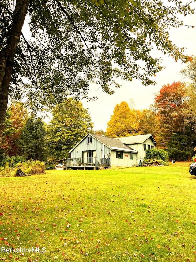
M143 162L145 150L155 146L151 134L110 138L89 133L69 151L70 158L55 161L56 168L138 166Z

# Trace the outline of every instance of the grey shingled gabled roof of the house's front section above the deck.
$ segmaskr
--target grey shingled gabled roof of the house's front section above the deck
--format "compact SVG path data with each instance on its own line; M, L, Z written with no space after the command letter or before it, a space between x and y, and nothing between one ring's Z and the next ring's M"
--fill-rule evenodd
M98 140L100 143L103 143L105 146L109 147L111 150L118 150L118 151L124 151L124 152L131 152L131 153L138 153L138 151L136 151L135 149L124 145L120 140L115 139L115 138L111 138L111 137L105 137L105 136L101 136L101 135L94 135L94 134L90 134L88 133L87 135L85 135L85 137L83 137L83 139L81 139L81 141L79 141L75 147L77 147L77 145L79 145L88 135L92 136L93 138L95 138L96 140ZM74 150L73 147L69 153L71 151Z

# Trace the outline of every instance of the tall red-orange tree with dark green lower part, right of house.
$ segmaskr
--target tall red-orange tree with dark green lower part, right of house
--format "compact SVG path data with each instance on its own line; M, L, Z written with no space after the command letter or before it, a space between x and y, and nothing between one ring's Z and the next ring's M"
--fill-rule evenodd
M155 108L160 116L162 143L168 147L170 158L187 159L196 141L190 117L190 96L185 83L164 85L155 96Z

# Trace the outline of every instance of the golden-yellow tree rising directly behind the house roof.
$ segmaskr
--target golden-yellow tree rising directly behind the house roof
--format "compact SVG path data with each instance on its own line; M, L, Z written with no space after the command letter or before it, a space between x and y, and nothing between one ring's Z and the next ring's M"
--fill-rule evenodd
M117 104L107 123L106 135L109 137L140 135L140 115L140 110L130 109L125 101Z

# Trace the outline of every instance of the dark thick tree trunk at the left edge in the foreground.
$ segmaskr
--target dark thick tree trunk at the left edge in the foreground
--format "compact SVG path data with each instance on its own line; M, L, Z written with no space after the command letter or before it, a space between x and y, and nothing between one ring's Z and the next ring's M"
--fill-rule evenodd
M6 110L16 48L21 36L30 0L17 0L6 47L0 52L0 143L5 125Z

